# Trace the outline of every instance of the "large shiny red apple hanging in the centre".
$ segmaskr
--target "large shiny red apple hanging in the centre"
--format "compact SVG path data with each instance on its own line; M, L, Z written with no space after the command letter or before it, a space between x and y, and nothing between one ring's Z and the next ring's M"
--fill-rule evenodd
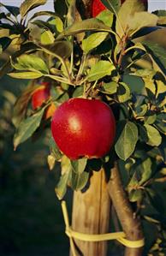
M56 109L51 133L68 158L101 158L113 145L116 120L98 99L70 98Z

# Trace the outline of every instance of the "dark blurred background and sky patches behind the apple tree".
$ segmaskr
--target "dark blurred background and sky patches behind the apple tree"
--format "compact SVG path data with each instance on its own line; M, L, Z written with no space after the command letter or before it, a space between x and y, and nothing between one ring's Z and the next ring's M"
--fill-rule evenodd
M0 1L17 6L21 2ZM42 9L52 9L52 2L48 1ZM166 1L151 0L149 10L155 9L166 9ZM166 48L166 37L161 31L149 37ZM1 64L5 58L0 57ZM46 161L47 134L38 142L27 140L14 152L12 111L25 86L27 80L14 80L7 75L0 80L0 255L67 256L68 237L54 192L58 170L50 172ZM66 199L71 212L71 192Z

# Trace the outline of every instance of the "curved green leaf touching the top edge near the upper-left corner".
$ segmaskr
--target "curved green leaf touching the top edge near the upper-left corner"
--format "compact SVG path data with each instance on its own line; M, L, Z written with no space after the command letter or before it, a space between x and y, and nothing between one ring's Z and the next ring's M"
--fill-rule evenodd
M46 2L47 0L24 0L20 7L21 16L24 17L30 10L44 5Z

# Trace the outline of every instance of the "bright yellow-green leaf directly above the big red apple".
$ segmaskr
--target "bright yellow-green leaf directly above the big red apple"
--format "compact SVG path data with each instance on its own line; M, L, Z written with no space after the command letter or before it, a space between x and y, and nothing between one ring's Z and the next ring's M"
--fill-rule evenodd
M92 66L89 74L87 75L87 80L99 80L105 75L110 75L114 69L116 68L112 63L108 61L99 61Z

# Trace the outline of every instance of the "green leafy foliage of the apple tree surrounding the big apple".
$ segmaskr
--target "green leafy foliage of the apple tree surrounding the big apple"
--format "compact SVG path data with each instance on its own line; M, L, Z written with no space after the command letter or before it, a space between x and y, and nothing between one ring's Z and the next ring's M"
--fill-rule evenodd
M50 101L37 111L30 104L35 86L27 87L17 100L14 144L16 148L34 132L41 132L44 109L51 102L58 105L72 97L102 98L115 111L117 133L115 145L101 159L100 167L111 166L115 159L122 163L124 185L135 212L157 229L151 245L157 242L158 247L145 249L164 252L157 239L165 241L165 205L157 184L165 181L166 53L159 45L140 42L139 37L159 29L158 24L165 26L166 14L145 12L138 0L133 0L132 6L130 0L122 6L118 0L102 2L107 11L81 21L75 21L73 15L75 1L65 1L59 13L55 1L55 13L39 12L29 19L30 10L45 1L24 1L20 10L6 7L9 15L1 14L1 51L9 45L17 48L0 74L8 67L11 77L33 79L33 85L47 80L52 87ZM47 21L39 20L42 15L48 16ZM21 101L25 102L23 110ZM61 162L62 174L56 184L59 199L68 186L75 190L86 186L92 160L72 162L50 139L48 161L51 170Z

